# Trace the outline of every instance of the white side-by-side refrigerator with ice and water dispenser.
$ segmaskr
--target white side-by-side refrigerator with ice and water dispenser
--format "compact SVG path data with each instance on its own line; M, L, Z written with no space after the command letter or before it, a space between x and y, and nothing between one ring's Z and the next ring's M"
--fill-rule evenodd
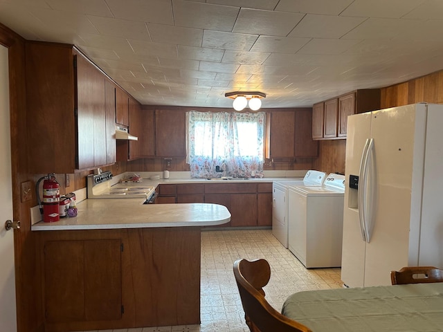
M347 118L346 286L389 285L403 266L443 268L442 124L437 104Z

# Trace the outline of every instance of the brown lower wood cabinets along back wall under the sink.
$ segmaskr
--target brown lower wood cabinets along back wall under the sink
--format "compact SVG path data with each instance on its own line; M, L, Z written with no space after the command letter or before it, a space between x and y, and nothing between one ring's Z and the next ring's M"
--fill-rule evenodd
M226 206L229 223L208 227L272 225L272 183L161 184L156 204L214 203Z

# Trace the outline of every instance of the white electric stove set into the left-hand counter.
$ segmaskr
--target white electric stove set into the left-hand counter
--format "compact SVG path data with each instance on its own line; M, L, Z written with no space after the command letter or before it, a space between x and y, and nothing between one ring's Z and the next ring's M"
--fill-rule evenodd
M145 199L152 201L155 187L143 183L114 183L111 172L87 176L88 199Z

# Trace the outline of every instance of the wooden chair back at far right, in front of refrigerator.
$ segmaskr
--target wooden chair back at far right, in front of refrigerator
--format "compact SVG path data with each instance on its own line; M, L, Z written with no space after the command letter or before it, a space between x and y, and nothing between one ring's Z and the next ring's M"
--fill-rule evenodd
M408 266L399 271L390 271L392 285L443 282L443 270L434 266Z

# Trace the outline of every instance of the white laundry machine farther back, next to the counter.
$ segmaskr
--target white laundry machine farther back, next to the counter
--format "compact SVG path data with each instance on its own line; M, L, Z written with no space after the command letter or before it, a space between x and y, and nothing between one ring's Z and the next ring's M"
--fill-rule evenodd
M302 180L274 181L272 184L272 234L288 248L288 187L289 185L321 186L325 181L325 172L309 170Z

